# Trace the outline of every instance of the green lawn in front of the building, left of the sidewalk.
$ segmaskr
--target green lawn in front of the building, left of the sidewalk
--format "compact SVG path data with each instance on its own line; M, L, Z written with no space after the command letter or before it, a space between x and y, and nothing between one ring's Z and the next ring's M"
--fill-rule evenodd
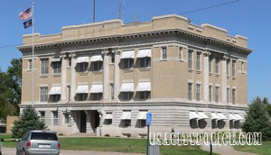
M1 137L2 135L0 135ZM99 138L99 137L60 137L62 150L93 150L113 152L145 153L145 139ZM16 141L4 141L4 147L15 148ZM130 149L129 149L130 146ZM161 146L163 155L201 155L209 154L199 146Z

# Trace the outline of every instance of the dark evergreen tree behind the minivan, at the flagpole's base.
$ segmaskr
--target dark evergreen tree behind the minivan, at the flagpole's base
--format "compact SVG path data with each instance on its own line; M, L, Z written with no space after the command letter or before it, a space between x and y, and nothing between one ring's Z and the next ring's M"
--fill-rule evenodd
M34 110L33 106L29 105L25 108L20 119L14 122L12 128L12 136L14 138L21 138L24 132L29 130L45 130L47 126L40 120L40 116Z

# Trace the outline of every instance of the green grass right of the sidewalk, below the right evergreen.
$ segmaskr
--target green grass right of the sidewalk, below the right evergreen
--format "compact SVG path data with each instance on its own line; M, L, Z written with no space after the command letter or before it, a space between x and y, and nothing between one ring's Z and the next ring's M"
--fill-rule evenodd
M236 145L234 146L234 149L262 155L269 155L271 152L271 141L263 141L262 145Z

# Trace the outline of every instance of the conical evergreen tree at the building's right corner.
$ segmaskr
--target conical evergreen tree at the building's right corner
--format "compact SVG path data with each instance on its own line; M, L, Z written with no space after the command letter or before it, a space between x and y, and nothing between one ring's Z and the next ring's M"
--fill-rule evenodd
M243 132L262 132L263 140L271 140L270 115L260 97L249 105L246 121L242 125Z

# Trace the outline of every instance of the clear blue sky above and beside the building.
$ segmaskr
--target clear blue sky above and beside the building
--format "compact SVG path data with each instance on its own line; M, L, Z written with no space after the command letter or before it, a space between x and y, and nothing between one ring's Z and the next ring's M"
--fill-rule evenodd
M118 0L96 0L96 22L117 19ZM153 16L182 14L232 0L126 0L125 23L149 21ZM92 22L93 0L34 1L35 32L60 33L62 26ZM5 71L11 59L22 54L15 48L22 44L24 29L18 14L30 7L30 0L1 0L0 68ZM256 96L271 100L271 1L239 0L230 5L210 8L192 14L183 14L192 23L210 23L227 29L229 35L248 37L248 47L254 51L248 56L248 102ZM241 92L240 92L241 93Z

